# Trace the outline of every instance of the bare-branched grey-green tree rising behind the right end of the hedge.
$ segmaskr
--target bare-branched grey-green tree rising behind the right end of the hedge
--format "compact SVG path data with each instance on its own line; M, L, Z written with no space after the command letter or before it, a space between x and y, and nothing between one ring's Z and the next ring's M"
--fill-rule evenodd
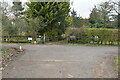
M116 28L116 14L111 1L95 6L90 14L89 21L92 27Z

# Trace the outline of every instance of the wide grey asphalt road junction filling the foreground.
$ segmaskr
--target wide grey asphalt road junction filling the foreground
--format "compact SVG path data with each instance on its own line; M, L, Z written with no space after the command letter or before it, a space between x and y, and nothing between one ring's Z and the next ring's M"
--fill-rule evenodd
M7 45L19 47L19 45ZM116 78L118 47L22 45L25 53L3 78ZM22 53L21 53L22 54Z

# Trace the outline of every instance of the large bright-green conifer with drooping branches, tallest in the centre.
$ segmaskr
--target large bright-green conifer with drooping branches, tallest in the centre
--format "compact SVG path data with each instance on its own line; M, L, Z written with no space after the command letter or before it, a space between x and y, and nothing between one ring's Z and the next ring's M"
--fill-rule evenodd
M43 33L54 34L56 32L56 28L62 29L66 27L64 22L69 16L70 10L68 2L30 2L27 3L27 6L29 8L26 12L26 20L29 21L30 18L34 19L38 17L46 25L44 29L39 29L39 32L42 35ZM53 35L53 37L55 36L56 35Z

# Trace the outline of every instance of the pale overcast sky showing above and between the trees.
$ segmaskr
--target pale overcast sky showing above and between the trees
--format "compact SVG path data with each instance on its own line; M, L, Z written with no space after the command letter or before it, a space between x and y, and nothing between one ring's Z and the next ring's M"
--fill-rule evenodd
M7 0L7 1L11 1L11 0ZM20 1L26 2L28 0L20 0ZM91 10L95 5L108 0L70 0L70 1L73 2L71 8L74 8L74 10L77 11L78 15L80 15L83 18L88 18ZM112 0L112 1L118 1L118 0Z

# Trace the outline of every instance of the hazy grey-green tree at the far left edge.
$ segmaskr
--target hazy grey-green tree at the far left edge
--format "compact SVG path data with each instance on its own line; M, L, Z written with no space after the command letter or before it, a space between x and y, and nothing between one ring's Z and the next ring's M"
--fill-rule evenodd
M15 27L12 25L9 13L9 5L7 2L2 3L2 36L10 37L16 34Z

